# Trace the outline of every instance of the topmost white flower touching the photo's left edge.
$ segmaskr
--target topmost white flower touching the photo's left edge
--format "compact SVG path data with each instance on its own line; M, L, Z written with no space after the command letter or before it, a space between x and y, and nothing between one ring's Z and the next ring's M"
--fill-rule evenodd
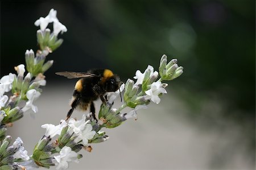
M3 76L0 79L0 96L3 96L5 92L9 92L11 90L11 84L14 81L14 74L10 73L7 76Z

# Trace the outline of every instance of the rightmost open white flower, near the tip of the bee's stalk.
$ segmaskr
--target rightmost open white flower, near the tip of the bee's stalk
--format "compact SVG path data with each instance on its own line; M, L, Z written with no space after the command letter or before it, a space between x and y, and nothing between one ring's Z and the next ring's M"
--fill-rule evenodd
M145 92L147 96L146 99L151 99L152 102L158 104L161 99L159 98L159 94L166 94L166 89L163 88L162 82L153 82L150 86L150 89Z

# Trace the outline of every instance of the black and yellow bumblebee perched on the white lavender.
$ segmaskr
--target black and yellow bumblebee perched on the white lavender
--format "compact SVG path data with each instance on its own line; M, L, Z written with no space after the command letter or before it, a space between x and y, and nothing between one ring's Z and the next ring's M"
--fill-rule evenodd
M94 69L83 72L57 72L57 75L67 78L80 78L75 85L71 109L66 121L71 117L74 109L87 110L90 107L93 118L97 121L93 101L100 97L103 103L108 100L106 92L115 92L121 86L120 78L109 69Z

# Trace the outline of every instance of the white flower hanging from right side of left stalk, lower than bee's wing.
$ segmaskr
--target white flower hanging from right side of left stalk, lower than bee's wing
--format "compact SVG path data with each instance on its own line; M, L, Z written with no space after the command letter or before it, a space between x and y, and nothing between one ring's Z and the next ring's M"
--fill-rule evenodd
M33 105L33 102L39 98L40 93L37 92L35 89L28 90L26 93L28 101L26 102L26 106L22 108L22 111L28 111L32 109L34 113L38 112L38 107Z

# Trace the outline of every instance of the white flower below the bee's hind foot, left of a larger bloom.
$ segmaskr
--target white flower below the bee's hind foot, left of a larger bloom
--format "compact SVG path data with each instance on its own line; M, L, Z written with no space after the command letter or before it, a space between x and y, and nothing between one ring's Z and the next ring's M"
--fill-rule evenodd
M49 136L49 138L53 138L56 135L60 135L61 130L63 127L67 126L67 122L64 120L60 121L61 123L57 126L52 124L44 124L41 127L46 128L46 136Z

